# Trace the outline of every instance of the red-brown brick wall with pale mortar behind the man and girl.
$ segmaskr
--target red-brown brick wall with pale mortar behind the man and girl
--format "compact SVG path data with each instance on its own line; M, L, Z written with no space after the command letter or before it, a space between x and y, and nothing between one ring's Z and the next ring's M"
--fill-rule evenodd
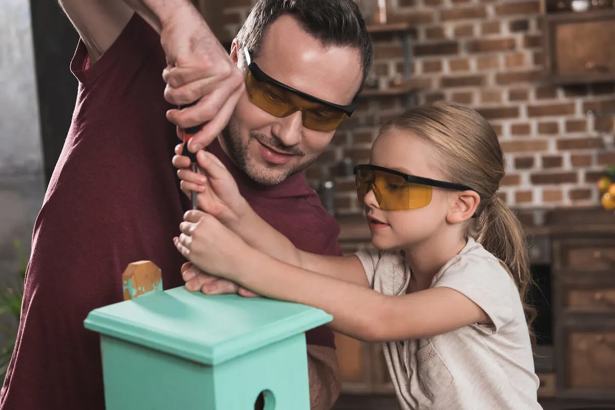
M413 75L423 90L418 103L452 99L478 109L496 129L506 152L501 195L512 207L598 204L594 182L607 164L613 118L587 117L589 109L615 110L614 83L549 87L542 78L539 0L391 1L389 21L416 27ZM249 0L229 0L225 28L232 37L247 15ZM373 70L403 72L398 37L375 37ZM330 150L308 169L314 186L332 171L340 214L360 211L352 177L338 172L344 157L368 158L381 124L399 114L405 98L363 99L333 137Z

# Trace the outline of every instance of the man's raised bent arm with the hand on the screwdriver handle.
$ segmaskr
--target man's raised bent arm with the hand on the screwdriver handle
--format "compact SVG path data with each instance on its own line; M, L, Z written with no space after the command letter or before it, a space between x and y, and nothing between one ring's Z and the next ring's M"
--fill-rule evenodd
M189 0L58 0L95 61L136 11L161 34L167 68L161 73L167 118L180 128L205 124L188 149L197 152L220 134L245 90L244 76ZM216 92L217 91L217 92Z

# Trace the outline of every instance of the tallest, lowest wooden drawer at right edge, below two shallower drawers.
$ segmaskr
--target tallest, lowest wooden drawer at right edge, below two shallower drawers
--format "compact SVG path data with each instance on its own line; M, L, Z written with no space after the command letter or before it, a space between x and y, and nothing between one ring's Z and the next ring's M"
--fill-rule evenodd
M567 356L567 387L615 389L615 330L569 331Z

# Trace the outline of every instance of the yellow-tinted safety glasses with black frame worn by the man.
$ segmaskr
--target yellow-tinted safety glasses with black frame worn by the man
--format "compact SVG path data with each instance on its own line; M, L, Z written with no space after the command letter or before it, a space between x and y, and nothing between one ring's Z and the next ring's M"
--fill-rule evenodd
M245 47L244 53L249 71L245 82L248 96L255 106L275 117L287 117L301 111L304 127L328 132L338 128L357 108L357 96L349 106L338 106L288 87L265 74Z

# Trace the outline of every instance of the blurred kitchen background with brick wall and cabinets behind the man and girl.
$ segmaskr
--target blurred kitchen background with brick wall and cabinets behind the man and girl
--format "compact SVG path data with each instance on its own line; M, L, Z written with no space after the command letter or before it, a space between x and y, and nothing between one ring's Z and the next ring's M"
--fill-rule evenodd
M229 47L252 2L195 0ZM500 195L526 226L546 409L615 406L613 0L360 0L375 62L360 106L306 171L345 252L369 246L352 168L379 125L415 104L478 109L506 152ZM21 273L77 82L57 2L0 4L0 313L12 351ZM20 250L21 249L21 250ZM338 409L396 409L380 347L338 335ZM606 407L605 407L606 408Z

